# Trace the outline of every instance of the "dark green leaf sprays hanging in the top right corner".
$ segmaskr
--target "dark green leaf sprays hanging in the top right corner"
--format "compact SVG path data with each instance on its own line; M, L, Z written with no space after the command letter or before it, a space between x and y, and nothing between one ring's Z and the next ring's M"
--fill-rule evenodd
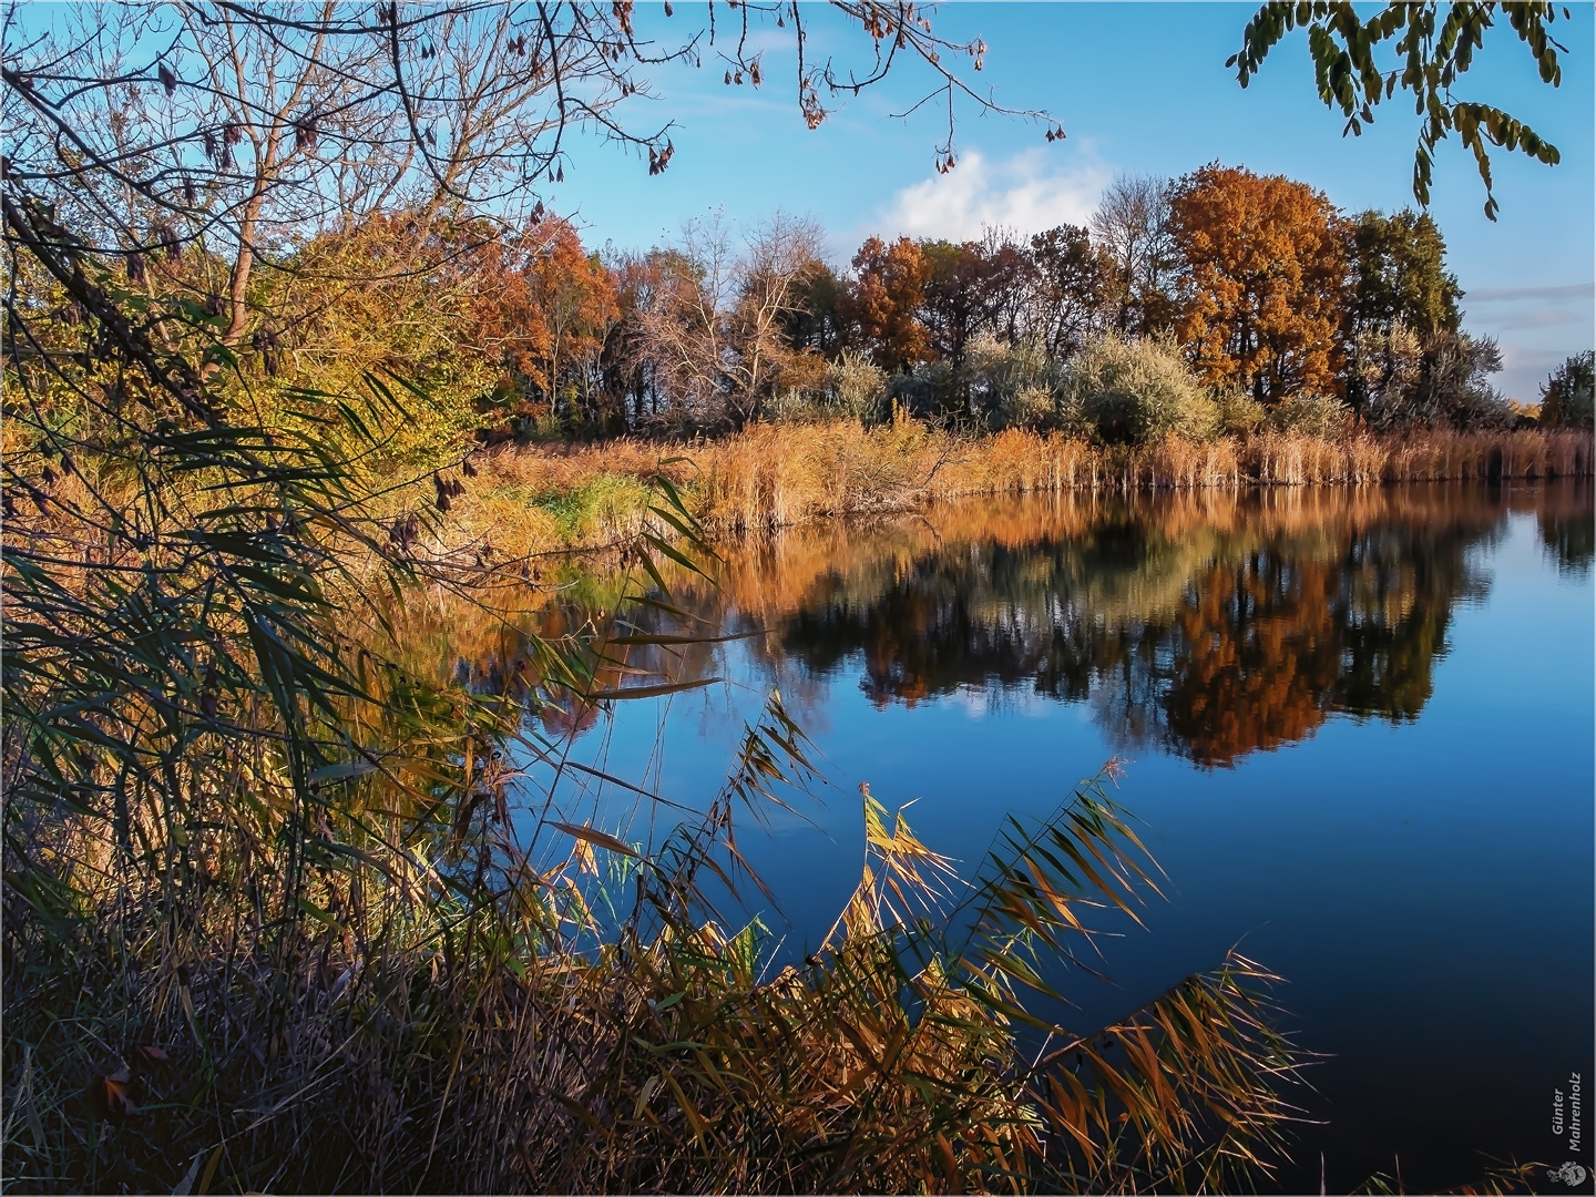
M1318 96L1325 107L1339 107L1347 118L1342 136L1358 136L1365 124L1373 124L1374 110L1382 101L1392 99L1396 88L1412 93L1412 110L1420 118L1419 145L1412 156L1414 200L1428 206L1435 147L1449 132L1456 132L1464 148L1475 155L1479 182L1486 187L1484 212L1495 220L1499 209L1491 195L1487 142L1507 150L1523 150L1548 166L1561 161L1558 147L1542 140L1523 121L1491 104L1460 101L1452 94L1499 13L1507 16L1518 40L1534 56L1540 81L1559 86L1562 65L1558 53L1567 49L1547 30L1558 19L1558 5L1545 0L1457 5L1392 0L1368 19L1360 18L1357 8L1345 0L1270 0L1246 22L1242 49L1226 65L1237 69L1237 80L1245 88L1286 32L1307 26ZM1376 62L1376 53L1390 38L1396 38L1392 49L1400 69L1387 70Z

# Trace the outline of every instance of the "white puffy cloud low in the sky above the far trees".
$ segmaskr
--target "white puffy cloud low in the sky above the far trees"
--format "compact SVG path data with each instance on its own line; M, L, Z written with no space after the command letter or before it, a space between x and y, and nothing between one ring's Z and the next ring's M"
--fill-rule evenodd
M969 241L988 227L1029 235L1084 225L1112 177L1112 168L1090 150L1034 147L1002 160L969 150L948 174L894 195L867 233Z

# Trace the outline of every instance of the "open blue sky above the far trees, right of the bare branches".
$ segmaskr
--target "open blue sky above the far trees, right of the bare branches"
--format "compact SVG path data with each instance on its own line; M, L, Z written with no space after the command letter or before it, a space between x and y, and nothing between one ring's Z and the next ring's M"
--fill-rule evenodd
M680 0L666 19L638 5L643 35L701 21ZM717 5L721 27L728 11ZM811 56L870 65L870 41L819 5L806 6ZM934 78L899 69L849 97L819 129L796 104L790 29L769 29L764 83L725 86L725 41L705 46L702 69L669 65L646 78L656 97L632 97L624 123L672 121L670 169L650 177L635 152L598 137L571 144L567 180L549 201L575 214L594 246L642 249L675 238L683 222L717 211L749 230L777 209L812 215L827 230L833 263L883 236L977 238L986 225L1021 235L1085 223L1120 172L1176 177L1210 161L1285 174L1323 190L1347 212L1411 207L1419 131L1411 99L1384 104L1361 137L1342 137L1325 109L1302 32L1288 35L1243 91L1224 61L1240 48L1251 5L1221 3L948 3L932 13L937 34L988 45L983 70L962 75L1007 109L1045 110L1068 137L1049 144L1047 123L972 102L956 110L958 166L935 171L946 104L902 118ZM1495 223L1483 214L1473 156L1456 140L1436 150L1430 212L1464 287L1464 326L1499 340L1497 385L1534 401L1547 373L1596 342L1596 70L1593 8L1570 5L1553 26L1567 48L1562 85L1540 83L1527 48L1503 24L1486 34L1457 99L1495 104L1562 152L1555 168L1499 150Z

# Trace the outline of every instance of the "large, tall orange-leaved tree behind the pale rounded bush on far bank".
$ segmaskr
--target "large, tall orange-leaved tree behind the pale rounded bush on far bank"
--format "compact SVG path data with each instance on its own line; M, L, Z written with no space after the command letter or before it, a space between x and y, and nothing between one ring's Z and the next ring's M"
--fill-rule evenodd
M1347 310L1345 222L1323 192L1205 166L1170 200L1183 259L1178 332L1197 370L1262 402L1328 394Z

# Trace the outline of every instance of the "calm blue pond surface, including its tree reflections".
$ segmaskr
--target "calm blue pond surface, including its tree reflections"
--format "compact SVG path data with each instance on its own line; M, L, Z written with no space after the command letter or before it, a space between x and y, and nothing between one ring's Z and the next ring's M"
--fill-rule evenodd
M723 681L544 729L702 806L779 688L833 782L739 835L779 899L780 959L857 883L859 782L916 800L916 833L974 870L1004 812L1047 814L1122 757L1168 900L1106 942L1112 986L1071 980L1073 1021L1240 942L1326 1053L1296 1093L1323 1125L1285 1191L1317 1192L1321 1157L1331 1192L1398 1168L1409 1192L1462 1184L1481 1152L1590 1167L1551 1098L1596 1071L1593 547L1575 484L1037 498L800 530L726 546L718 587L675 591L755 635L626 680ZM492 685L514 651L460 669ZM634 841L672 825L614 787L586 801Z

